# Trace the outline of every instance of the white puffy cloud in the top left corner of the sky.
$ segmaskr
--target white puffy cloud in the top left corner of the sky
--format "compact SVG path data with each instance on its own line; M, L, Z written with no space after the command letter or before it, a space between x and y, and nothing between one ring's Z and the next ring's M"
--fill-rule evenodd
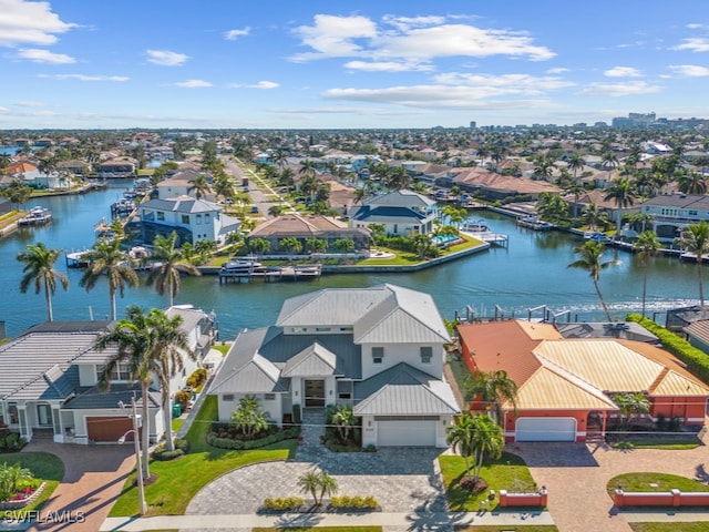
M60 20L49 2L0 0L0 45L53 44L74 25Z

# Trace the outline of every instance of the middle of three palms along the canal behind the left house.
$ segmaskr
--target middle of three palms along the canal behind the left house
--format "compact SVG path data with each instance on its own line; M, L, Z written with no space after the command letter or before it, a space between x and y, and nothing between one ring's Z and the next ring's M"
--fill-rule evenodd
M121 250L121 241L97 241L89 253L84 255L89 266L81 276L79 286L91 291L104 275L109 279L109 299L111 300L111 319L116 319L115 293L121 297L125 294L125 285L136 287L137 274L127 263L127 256Z

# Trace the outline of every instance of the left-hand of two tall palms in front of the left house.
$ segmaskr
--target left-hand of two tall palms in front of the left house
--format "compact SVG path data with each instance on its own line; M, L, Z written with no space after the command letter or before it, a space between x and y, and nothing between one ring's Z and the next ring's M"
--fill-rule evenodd
M143 419L143 478L150 478L148 443L150 443L150 386L153 383L154 371L157 368L158 352L155 349L155 336L148 314L136 305L127 308L126 317L121 319L109 332L99 337L96 348L105 350L109 346L116 346L115 354L106 360L99 377L99 385L103 390L111 387L111 376L117 371L120 365L127 366L132 382L141 387L141 409ZM137 438L137 434L134 434Z

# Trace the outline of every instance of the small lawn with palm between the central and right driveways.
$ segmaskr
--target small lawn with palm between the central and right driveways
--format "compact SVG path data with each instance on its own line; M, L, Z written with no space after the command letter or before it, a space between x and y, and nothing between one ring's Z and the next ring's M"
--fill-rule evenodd
M487 491L477 494L458 485L465 470L465 463L461 457L446 454L440 457L439 462L445 485L445 497L453 511L476 512L480 510L480 503L487 499L490 490L499 492L500 490L536 491L537 489L524 460L510 452L503 452L500 460L485 461L480 475L487 482L489 488ZM490 510L494 510L499 502L499 499L495 499Z

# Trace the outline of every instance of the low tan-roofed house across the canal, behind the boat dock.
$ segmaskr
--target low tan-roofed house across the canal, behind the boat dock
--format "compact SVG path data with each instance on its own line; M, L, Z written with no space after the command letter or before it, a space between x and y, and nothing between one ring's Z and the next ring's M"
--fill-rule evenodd
M329 216L284 214L258 225L248 236L247 243L255 238L264 238L270 244L269 254L287 253L281 249L280 241L297 238L307 252L307 241L318 238L327 243L330 253L337 253L335 243L347 238L354 244L356 252L369 252L370 232L364 228L349 227Z

